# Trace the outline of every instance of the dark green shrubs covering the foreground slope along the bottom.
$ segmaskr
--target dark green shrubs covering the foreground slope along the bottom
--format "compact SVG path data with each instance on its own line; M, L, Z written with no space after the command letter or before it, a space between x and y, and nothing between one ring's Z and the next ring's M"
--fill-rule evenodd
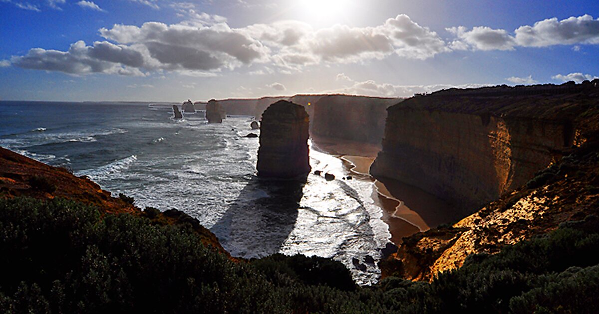
M69 200L0 200L0 312L596 312L599 221L568 222L432 283L358 287L340 263L231 261L190 224Z

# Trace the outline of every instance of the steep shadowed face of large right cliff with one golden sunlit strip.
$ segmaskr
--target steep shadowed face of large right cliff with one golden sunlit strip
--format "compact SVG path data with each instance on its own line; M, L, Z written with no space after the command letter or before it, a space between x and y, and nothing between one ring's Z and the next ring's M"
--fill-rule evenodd
M533 178L574 144L575 119L591 98L557 91L516 89L503 96L450 91L405 100L388 110L383 150L371 173L474 212Z

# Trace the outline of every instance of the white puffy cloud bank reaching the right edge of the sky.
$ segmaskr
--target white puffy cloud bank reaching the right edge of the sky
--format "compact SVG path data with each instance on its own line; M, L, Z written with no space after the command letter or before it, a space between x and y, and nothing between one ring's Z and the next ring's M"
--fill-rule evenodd
M450 44L454 50L512 50L515 47L599 44L599 19L588 14L564 20L553 17L536 22L533 26L520 26L513 35L504 29L486 26L470 30L459 26L446 30L457 37Z

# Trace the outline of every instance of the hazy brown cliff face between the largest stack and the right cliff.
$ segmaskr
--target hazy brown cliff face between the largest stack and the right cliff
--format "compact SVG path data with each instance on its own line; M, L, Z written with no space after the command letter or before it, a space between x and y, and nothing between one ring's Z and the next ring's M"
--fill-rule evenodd
M397 98L328 95L312 103L310 134L319 141L354 141L380 145L386 109Z

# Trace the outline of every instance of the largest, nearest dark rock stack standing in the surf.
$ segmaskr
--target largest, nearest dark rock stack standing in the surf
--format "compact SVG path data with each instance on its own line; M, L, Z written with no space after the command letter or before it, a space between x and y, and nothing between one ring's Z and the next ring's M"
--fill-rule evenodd
M286 100L273 103L264 111L258 176L288 179L310 172L309 124L304 107Z

